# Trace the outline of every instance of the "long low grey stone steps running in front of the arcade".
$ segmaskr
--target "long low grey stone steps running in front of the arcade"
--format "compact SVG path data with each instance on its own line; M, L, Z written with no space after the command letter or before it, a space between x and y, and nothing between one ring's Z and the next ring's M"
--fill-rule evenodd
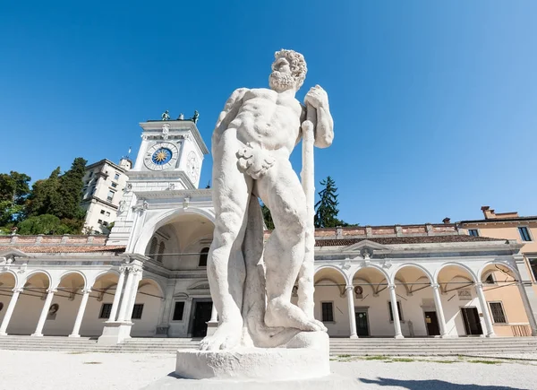
M99 345L96 338L0 336L0 350L175 353L178 349L193 349L200 339L132 338L117 345ZM330 339L330 354L353 356L449 356L487 355L499 353L537 353L537 337L460 337L453 339Z

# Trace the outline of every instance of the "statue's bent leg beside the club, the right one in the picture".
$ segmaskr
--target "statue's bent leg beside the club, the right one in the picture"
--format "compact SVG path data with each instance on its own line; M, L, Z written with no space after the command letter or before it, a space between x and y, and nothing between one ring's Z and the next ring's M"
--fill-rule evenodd
M326 331L320 321L308 318L291 303L305 250L306 199L300 181L288 160L277 160L256 184L275 225L263 255L268 299L265 323L303 331Z

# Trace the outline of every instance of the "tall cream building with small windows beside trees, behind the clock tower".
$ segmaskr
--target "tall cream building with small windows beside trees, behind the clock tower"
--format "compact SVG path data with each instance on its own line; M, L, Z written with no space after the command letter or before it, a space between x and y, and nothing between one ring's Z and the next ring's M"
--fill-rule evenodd
M117 217L127 184L127 171L132 161L123 158L119 165L110 160L100 160L86 167L82 181L81 207L86 211L84 230L94 234L108 234Z

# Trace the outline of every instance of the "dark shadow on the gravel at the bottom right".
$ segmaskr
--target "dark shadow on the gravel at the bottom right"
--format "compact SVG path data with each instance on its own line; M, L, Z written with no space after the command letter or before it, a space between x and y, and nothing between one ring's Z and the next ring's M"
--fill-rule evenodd
M358 380L368 385L393 386L397 388L406 388L409 390L524 390L519 387L507 386L461 385L437 379L405 380L392 379L388 377L379 377L378 379L366 379L359 377Z

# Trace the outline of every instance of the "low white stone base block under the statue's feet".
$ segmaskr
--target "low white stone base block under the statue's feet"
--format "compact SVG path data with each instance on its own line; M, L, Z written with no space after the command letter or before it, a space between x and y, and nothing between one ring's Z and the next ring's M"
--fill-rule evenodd
M287 348L179 350L175 375L191 379L265 380L326 377L330 375L328 352L329 339L324 332L297 334Z

